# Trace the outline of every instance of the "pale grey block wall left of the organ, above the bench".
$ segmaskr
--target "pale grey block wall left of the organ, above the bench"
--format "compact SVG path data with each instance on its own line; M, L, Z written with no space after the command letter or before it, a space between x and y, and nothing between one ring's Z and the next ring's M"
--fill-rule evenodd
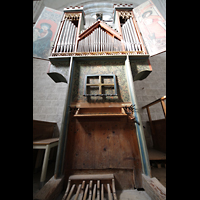
M33 58L33 119L56 122L60 131L68 84L48 75L49 61Z

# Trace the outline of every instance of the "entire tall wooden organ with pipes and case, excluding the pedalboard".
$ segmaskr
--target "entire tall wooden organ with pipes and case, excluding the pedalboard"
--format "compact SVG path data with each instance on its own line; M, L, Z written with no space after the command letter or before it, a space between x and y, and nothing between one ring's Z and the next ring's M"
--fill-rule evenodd
M83 7L64 9L48 75L68 84L55 167L55 177L64 175L65 189L73 175L112 174L117 190L142 188L142 173L150 175L133 95L133 81L152 71L149 56L165 51L150 51L148 37L154 44L156 38L148 28L144 39L144 27L138 26L137 21L145 24L140 17L147 17L149 2L135 11L132 5L114 5L115 28L98 20L84 29Z

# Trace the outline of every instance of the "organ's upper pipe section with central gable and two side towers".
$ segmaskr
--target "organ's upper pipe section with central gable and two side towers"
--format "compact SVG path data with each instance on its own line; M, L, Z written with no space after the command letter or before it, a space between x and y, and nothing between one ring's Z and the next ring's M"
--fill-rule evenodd
M116 12L118 31L100 19L83 30L83 13L64 10L51 56L147 54L138 27L133 22L133 12Z

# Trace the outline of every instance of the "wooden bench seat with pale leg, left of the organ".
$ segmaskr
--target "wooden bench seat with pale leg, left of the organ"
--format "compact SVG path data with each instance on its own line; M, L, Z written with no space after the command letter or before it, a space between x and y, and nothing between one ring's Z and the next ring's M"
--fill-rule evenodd
M33 149L44 149L44 160L42 165L42 173L40 177L40 188L44 185L46 179L46 172L49 160L49 153L52 147L58 146L59 138L49 138L43 140L35 140L33 141ZM40 154L41 155L41 154ZM37 158L38 160L39 158Z

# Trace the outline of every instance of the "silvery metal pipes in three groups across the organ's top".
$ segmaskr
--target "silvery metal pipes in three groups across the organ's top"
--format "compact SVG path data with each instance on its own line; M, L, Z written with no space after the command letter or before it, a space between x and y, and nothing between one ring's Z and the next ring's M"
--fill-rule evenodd
M141 51L142 46L132 17L122 25L121 29L123 35L122 41L111 36L101 27L96 28L78 42L77 52L122 51L121 42L124 43L125 51ZM77 27L70 20L65 19L55 51L74 52L76 35Z

